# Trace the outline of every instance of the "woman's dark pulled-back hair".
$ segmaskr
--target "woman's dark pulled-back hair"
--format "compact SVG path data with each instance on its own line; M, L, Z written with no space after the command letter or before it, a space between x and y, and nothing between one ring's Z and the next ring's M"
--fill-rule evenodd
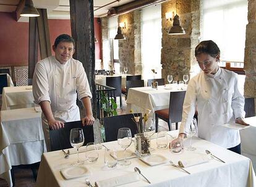
M208 54L215 58L217 55L220 55L220 49L217 44L211 40L202 41L195 47L195 57L200 54Z

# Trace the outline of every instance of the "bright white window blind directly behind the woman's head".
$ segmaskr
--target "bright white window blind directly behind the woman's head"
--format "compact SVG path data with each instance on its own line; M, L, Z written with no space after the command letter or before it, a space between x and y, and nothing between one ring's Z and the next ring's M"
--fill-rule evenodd
M202 39L216 42L221 60L244 62L247 0L203 0Z

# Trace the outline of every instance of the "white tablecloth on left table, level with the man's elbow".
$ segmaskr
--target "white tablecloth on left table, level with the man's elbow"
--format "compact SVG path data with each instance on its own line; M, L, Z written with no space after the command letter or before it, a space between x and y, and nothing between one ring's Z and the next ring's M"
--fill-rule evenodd
M29 108L34 106L33 101L32 86L4 87L2 89L1 110Z

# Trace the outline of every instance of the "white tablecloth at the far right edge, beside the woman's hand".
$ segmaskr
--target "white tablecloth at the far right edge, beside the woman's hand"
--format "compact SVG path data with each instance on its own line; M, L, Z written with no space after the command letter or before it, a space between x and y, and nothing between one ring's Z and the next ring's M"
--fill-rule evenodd
M250 128L240 130L241 154L252 160L256 172L256 117L247 117L245 121Z

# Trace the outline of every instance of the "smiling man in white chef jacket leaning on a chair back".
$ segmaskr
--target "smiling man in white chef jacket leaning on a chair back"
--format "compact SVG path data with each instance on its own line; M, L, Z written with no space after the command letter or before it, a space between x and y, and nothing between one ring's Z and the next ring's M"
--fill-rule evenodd
M33 74L33 96L43 111L43 132L48 151L49 129L59 129L64 127L64 122L80 120L77 94L86 113L82 124L92 125L95 121L87 75L82 63L72 58L74 46L74 39L68 34L58 36L53 45L55 55L36 63Z

